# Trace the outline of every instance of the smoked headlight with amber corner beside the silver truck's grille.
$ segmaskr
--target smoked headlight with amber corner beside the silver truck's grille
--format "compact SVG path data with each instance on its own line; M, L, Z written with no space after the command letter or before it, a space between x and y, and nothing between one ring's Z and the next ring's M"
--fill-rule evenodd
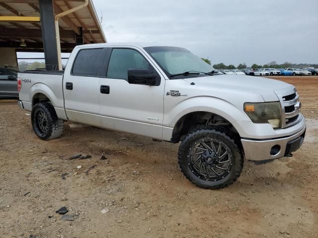
M273 128L281 127L279 102L244 103L244 112L254 123L269 123Z

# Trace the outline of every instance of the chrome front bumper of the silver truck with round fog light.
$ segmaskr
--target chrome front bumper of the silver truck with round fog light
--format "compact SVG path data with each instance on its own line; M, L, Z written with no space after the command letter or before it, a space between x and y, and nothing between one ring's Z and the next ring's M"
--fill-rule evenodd
M293 135L274 139L241 139L245 159L266 161L284 157L298 150L304 141L306 126Z

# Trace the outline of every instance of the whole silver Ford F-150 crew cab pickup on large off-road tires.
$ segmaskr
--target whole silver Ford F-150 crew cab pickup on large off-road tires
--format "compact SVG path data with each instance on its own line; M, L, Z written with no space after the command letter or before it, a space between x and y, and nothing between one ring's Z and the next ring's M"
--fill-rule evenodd
M18 90L39 138L61 136L72 121L181 142L182 173L211 189L238 179L244 159L259 164L296 151L306 131L293 85L220 75L178 47L77 46L65 71L19 72Z

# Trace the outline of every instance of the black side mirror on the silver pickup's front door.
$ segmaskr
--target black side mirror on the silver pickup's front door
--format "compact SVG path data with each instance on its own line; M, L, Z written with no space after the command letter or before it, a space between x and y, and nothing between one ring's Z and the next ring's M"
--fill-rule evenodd
M128 83L141 85L156 85L157 75L147 69L128 69Z

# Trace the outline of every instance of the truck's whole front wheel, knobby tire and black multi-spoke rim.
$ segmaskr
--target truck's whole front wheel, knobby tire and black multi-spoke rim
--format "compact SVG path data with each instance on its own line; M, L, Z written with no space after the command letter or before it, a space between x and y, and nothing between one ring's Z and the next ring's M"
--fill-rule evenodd
M199 187L219 189L235 182L243 169L243 156L231 132L221 127L201 126L181 142L178 163L181 172Z

